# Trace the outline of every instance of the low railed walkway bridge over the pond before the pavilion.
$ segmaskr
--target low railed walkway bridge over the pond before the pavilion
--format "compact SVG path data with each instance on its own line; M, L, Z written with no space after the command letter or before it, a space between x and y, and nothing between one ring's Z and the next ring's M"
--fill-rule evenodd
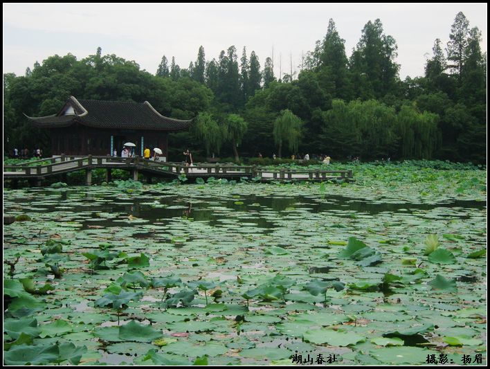
M34 165L33 164L37 164ZM30 165L30 166L28 166ZM111 170L128 170L131 178L138 180L142 173L151 182L152 177L177 178L182 174L188 179L255 179L257 181L327 181L329 179L352 180L352 170L270 170L256 165L224 165L197 163L186 167L183 163L161 162L136 158L120 158L113 156L55 156L53 158L31 161L20 165L4 165L3 181L16 183L28 180L33 186L41 186L42 180L48 177L61 176L66 180L66 174L84 170L86 184L92 183L92 170L106 169L106 180L111 181Z

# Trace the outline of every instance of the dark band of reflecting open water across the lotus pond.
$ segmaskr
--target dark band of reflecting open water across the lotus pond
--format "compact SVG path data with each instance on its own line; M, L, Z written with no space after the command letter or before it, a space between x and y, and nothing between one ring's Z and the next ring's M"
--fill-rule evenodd
M162 192L145 191L137 197L128 197L124 193L98 194L90 191L78 192L77 190L64 190L59 192L59 198L53 197L53 192L37 191L35 197L19 198L12 200L16 203L32 202L49 195L49 201L40 205L39 211L48 212L59 210L60 206L66 206L72 212L87 209L93 212L93 219L83 219L83 228L89 225L98 226L124 226L120 218L102 219L98 213L126 215L145 219L150 223L165 223L172 218L191 218L197 222L209 222L211 226L223 226L229 222L236 222L242 226L256 226L265 231L275 228L274 217L271 213L282 213L287 217L301 217L301 212L310 213L334 213L338 217L352 217L356 215L377 215L379 213L412 213L419 210L433 210L435 208L462 208L464 210L483 209L484 201L453 200L441 204L407 204L407 203L382 203L377 200L360 200L339 195L327 195L325 197L296 196L279 197L266 195L234 195L233 197L182 197L177 195L165 195ZM30 208L37 211L36 206ZM234 217L230 217L233 210ZM262 215L269 215L267 219ZM464 217L464 215L461 215ZM130 224L128 224L130 226ZM152 237L152 233L137 233L138 238Z

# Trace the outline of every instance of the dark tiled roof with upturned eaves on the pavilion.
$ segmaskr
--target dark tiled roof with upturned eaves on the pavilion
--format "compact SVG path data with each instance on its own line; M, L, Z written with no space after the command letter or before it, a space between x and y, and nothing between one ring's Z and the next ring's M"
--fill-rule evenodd
M75 114L65 114L72 107ZM37 127L69 127L80 123L89 127L111 129L149 129L158 131L179 131L187 129L192 120L178 120L162 116L149 102L77 100L73 96L64 108L53 116L28 117Z

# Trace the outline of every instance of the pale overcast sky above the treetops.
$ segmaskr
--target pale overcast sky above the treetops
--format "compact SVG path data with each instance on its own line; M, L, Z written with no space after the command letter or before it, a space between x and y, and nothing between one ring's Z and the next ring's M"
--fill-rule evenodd
M36 61L72 53L78 60L95 54L116 54L155 73L162 55L181 68L206 60L235 45L238 57L246 46L263 68L274 50L275 75L298 69L302 53L323 39L333 18L345 39L347 57L368 21L381 19L385 35L398 45L400 78L424 74L436 38L444 46L451 24L462 11L482 31L487 51L487 3L3 3L3 73L23 75Z

